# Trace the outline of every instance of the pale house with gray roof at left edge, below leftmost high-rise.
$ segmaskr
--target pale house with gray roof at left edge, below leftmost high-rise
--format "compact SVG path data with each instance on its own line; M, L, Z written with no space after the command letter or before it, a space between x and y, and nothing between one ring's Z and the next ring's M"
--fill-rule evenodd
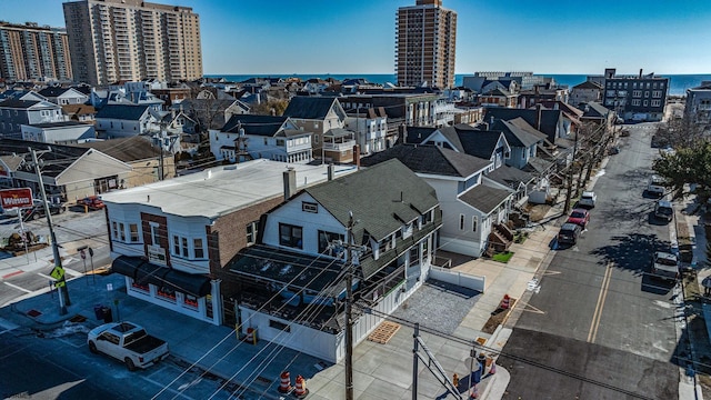
M46 100L0 102L0 137L19 139L23 124L56 123L66 120L61 107Z

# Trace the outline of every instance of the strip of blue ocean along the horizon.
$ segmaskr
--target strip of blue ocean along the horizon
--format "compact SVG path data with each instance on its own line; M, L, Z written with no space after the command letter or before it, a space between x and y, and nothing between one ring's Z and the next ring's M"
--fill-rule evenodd
M472 76L473 73L457 73L454 76L454 86L461 86L463 82L463 77ZM537 76L542 77L552 77L555 79L555 82L559 84L567 84L569 88L574 87L578 83L582 83L587 79L587 74L547 74L547 73L537 73ZM687 89L695 88L701 84L701 81L711 80L711 73L703 74L657 74L659 77L669 78L669 94L670 96L682 96L687 93ZM261 77L261 78L301 78L302 80L311 79L311 78L321 78L328 79L333 78L337 80L343 80L347 78L364 78L369 82L384 84L387 82L395 83L397 79L393 73L292 73L292 74L207 74L209 78L224 78L231 82L240 82L250 78Z

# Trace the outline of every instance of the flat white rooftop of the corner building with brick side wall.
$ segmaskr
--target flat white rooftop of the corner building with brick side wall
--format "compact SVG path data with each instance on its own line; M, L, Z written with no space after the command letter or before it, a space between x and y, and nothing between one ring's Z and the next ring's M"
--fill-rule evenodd
M214 219L267 199L284 196L283 172L297 172L297 191L328 180L328 166L292 164L267 159L206 169L142 187L101 194L111 204L160 208L163 213ZM334 178L357 171L333 166Z

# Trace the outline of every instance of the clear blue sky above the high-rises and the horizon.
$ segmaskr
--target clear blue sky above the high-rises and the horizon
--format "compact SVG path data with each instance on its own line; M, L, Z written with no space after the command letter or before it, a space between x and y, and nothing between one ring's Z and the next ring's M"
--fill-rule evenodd
M393 73L415 0L162 0L200 14L206 74ZM0 19L64 26L62 0L0 0ZM457 73L711 73L705 0L443 0Z

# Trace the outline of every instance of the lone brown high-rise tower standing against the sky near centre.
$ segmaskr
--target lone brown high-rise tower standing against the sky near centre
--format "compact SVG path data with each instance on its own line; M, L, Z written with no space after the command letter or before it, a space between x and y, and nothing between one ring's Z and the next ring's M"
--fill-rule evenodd
M398 9L395 24L398 84L451 88L457 12L442 8L442 0L417 0Z

